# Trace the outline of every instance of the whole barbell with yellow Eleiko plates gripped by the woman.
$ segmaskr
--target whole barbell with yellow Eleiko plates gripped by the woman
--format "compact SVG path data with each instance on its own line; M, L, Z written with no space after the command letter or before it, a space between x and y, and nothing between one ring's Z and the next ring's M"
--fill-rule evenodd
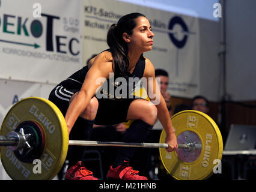
M52 179L66 160L69 145L159 148L160 159L175 179L206 179L213 161L221 160L223 143L218 126L205 113L185 110L171 118L178 149L167 152L166 133L160 143L124 143L69 140L67 125L58 107L39 97L20 100L5 116L0 130L2 165L11 179ZM41 173L34 172L40 160Z

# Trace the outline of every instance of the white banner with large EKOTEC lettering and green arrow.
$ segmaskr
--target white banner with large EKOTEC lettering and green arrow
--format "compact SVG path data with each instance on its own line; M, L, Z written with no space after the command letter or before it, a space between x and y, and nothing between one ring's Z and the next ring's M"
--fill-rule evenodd
M58 83L82 67L81 0L2 0L2 79Z

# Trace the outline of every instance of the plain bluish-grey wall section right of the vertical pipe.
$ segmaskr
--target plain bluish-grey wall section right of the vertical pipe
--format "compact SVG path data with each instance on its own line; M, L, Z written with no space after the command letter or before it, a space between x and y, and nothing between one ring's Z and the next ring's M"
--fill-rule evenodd
M227 0L227 94L256 100L256 1Z

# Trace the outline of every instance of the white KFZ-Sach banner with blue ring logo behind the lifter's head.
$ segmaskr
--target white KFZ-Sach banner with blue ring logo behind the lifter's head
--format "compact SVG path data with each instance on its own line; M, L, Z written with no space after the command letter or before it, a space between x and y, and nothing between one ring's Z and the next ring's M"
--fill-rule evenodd
M114 0L84 0L84 60L108 49L106 34L124 14L139 12L150 20L153 50L144 55L169 73L171 95L191 97L200 91L198 18Z

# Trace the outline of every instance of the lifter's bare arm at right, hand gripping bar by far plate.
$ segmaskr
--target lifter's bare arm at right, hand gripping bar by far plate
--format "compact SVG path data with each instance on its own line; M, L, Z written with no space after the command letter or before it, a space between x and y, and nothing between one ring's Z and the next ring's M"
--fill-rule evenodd
M175 136L174 128L172 127L171 118L169 116L169 111L166 107L165 100L160 93L159 85L154 76L154 66L149 59L146 59L144 77L147 77L148 86L147 94L150 100L156 105L157 108L157 118L163 125L166 132L166 143L168 143L168 152L177 149L177 138Z

